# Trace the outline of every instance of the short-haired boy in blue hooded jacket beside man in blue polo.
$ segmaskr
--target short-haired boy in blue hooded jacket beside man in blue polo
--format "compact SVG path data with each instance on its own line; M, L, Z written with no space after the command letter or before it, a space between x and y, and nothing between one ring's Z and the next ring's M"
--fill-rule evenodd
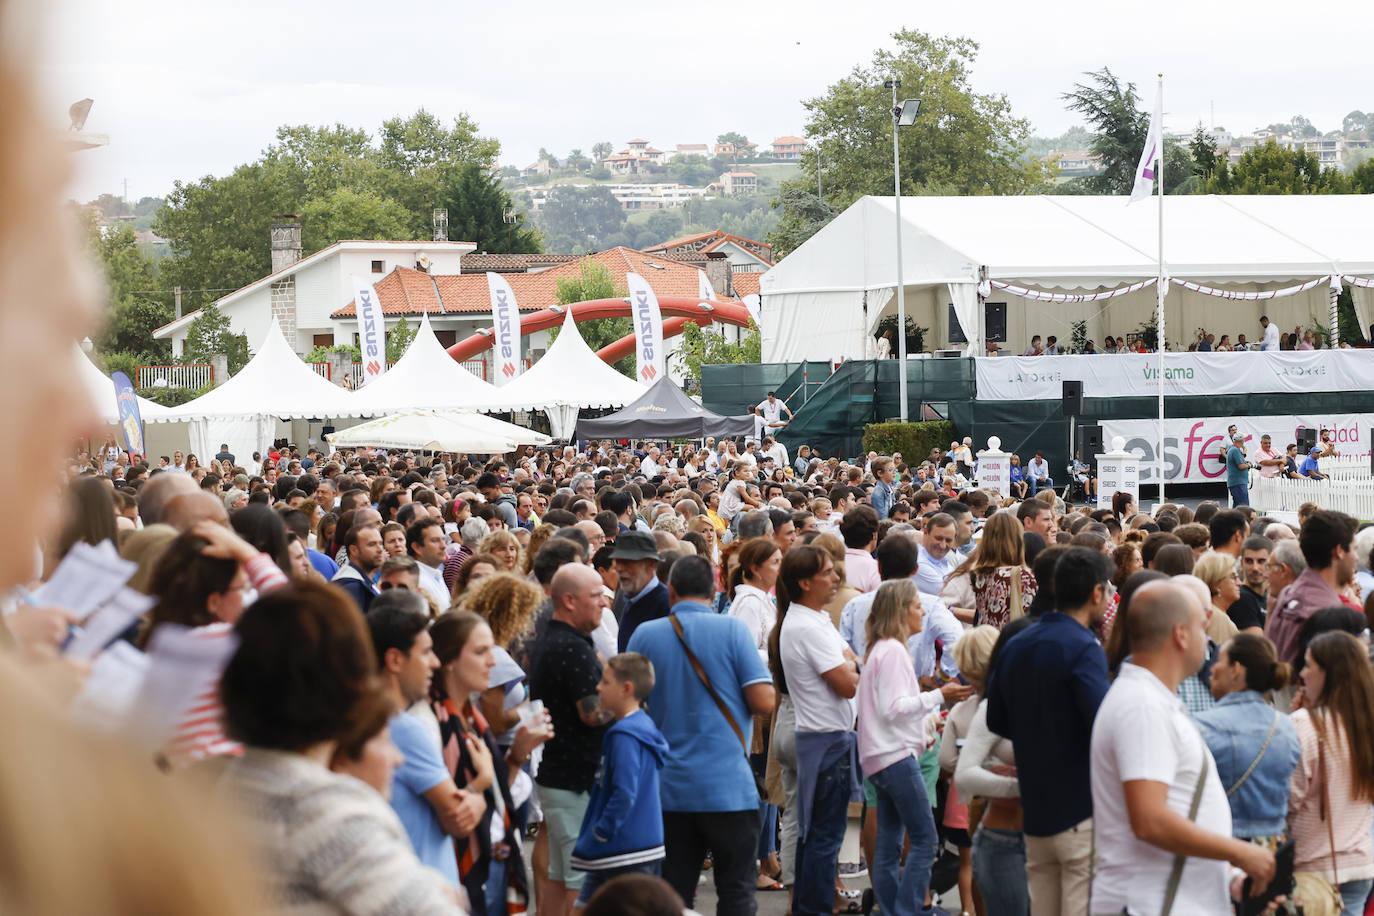
M573 847L573 868L587 872L577 895L578 908L617 875L662 871L658 770L668 755L668 742L642 709L651 689L654 665L639 652L621 652L602 669L596 696L616 724L602 739L596 781Z

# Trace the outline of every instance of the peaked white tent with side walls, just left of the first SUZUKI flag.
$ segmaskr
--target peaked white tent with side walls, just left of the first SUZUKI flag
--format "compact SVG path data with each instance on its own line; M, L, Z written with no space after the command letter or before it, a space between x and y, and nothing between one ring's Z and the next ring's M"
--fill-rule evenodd
M297 356L276 321L238 375L153 423L190 423L191 450L214 455L221 442L243 457L278 438L278 423L359 416L353 394L316 375Z

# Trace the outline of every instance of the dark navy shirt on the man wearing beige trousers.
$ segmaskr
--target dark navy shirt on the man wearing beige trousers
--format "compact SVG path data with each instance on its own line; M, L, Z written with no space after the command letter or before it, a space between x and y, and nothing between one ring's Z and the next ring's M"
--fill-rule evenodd
M1043 614L1002 648L988 681L988 728L1015 744L1028 836L1092 817L1092 721L1107 687L1106 654L1066 614Z

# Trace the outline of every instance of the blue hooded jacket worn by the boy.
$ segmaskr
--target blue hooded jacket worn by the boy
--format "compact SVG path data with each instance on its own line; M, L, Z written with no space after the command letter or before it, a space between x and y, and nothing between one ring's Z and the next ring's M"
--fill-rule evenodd
M649 713L639 710L611 725L573 847L573 868L595 872L664 857L658 770L666 758L668 742Z

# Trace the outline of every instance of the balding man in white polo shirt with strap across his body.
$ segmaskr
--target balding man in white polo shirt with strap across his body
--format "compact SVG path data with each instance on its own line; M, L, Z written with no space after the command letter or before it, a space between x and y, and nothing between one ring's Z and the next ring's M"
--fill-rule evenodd
M1176 694L1202 666L1205 619L1175 582L1131 599L1132 658L1092 725L1094 913L1228 913L1227 862L1260 890L1274 878L1274 853L1231 836L1216 761Z

